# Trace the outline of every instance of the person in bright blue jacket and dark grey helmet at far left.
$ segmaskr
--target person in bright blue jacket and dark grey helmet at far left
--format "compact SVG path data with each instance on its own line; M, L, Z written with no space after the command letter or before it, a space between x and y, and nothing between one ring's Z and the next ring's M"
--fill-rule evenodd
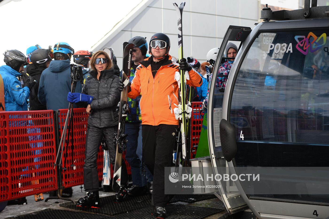
M0 67L0 74L4 85L5 111L24 111L27 110L26 100L30 96L29 83L24 83L22 87L17 77L21 76L19 72L24 70L27 64L25 55L16 50L7 50L4 53L4 62L6 65Z

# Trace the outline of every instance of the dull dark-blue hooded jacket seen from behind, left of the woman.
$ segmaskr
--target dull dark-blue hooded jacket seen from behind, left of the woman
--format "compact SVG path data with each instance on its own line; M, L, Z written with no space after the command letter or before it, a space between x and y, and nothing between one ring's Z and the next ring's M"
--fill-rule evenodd
M81 93L81 84L77 82L75 92ZM51 61L42 71L38 99L47 109L67 109L67 93L71 91L70 60Z

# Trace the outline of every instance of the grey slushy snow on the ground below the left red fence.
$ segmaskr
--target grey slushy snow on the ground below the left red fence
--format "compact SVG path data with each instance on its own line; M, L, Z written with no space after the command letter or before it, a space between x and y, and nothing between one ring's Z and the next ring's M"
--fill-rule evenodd
M72 189L73 189L73 194L71 197L72 200L78 201L79 198L85 196L85 191L82 189L81 192L80 185L74 186ZM115 194L114 192L99 191L99 197L105 197L114 194ZM68 210L68 208L60 207L60 204L67 201L61 199L50 199L47 202L45 202L44 200L46 200L46 198L48 197L49 197L49 193L44 193L43 201L36 202L34 200L34 196L32 195L26 197L27 205L7 205L6 208L2 212L0 212L0 219L23 215L23 214L29 214L35 211L44 210L46 208Z

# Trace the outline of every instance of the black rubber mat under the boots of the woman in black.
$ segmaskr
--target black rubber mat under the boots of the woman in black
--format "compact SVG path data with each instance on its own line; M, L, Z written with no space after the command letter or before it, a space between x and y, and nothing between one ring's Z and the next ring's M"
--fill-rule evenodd
M137 197L126 197L121 203L114 203L114 195L100 198L101 207L100 208L85 208L76 207L72 202L66 202L61 204L61 207L67 207L76 210L89 211L104 215L117 215L121 213L126 213L127 211L132 211L142 207L147 207L151 205L151 197L149 195L137 196Z

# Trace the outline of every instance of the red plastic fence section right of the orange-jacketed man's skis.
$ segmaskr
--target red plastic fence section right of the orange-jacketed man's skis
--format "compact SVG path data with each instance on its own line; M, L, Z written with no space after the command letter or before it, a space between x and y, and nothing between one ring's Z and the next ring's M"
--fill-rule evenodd
M192 102L192 115L191 115L191 158L195 158L196 148L199 143L202 120L204 111L200 112L202 102Z

